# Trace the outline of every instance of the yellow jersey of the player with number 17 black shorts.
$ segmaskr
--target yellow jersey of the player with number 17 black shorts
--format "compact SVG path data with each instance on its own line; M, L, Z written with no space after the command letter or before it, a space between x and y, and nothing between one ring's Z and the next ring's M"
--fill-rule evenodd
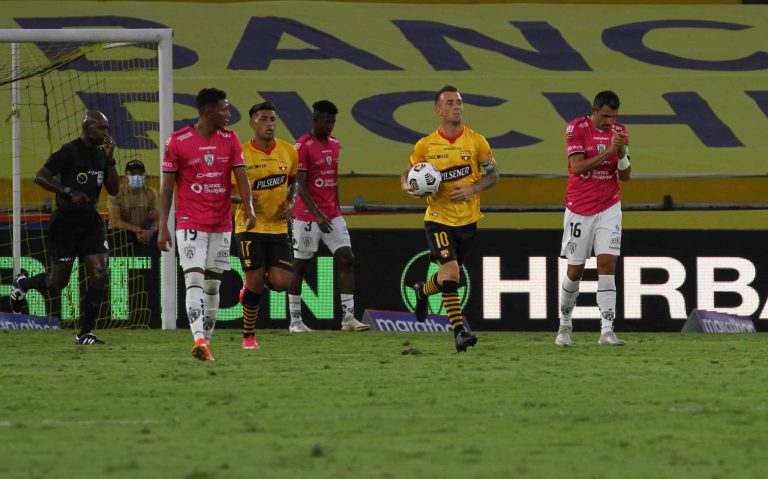
M288 232L288 222L280 217L282 204L288 194L289 180L296 177L299 157L292 144L275 138L269 150L263 150L253 141L243 143L245 171L255 193L253 209L256 226L250 233L280 234ZM234 174L232 184L236 185ZM246 231L247 219L243 205L235 210L235 233Z

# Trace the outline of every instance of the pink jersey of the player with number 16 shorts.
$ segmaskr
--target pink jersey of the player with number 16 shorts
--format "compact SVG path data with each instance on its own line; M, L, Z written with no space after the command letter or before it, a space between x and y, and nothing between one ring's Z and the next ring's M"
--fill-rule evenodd
M600 166L582 175L571 171L570 157L584 155L592 158L611 147L613 133L627 134L624 125L614 123L612 130L601 131L594 127L589 116L577 118L565 129L565 145L568 153L568 189L565 206L580 215L594 215L621 201L617 175L618 154L604 160Z

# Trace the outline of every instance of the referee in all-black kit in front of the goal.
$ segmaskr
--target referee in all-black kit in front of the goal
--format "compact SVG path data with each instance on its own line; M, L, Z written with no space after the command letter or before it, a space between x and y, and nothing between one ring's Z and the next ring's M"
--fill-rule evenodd
M89 111L83 117L80 137L64 144L40 168L35 183L56 193L56 211L48 225L51 269L31 278L22 273L13 280L12 300L22 300L30 289L47 290L55 296L67 286L74 260L79 258L85 265L88 290L80 314L80 334L75 336L77 344L104 344L92 333L109 284L109 247L96 206L102 185L112 196L120 189L114 150L107 117L100 111Z

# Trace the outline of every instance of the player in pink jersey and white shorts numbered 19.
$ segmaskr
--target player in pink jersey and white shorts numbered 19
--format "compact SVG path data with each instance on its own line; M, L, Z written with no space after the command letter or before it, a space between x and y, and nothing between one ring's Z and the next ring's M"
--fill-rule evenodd
M175 188L176 246L187 286L187 317L195 341L192 355L213 361L210 340L219 310L219 286L224 271L230 269L233 175L243 199L246 229L254 226L256 216L240 140L225 128L232 116L227 94L216 88L200 90L197 110L197 122L173 132L165 146L157 245L161 251L173 246L168 215Z

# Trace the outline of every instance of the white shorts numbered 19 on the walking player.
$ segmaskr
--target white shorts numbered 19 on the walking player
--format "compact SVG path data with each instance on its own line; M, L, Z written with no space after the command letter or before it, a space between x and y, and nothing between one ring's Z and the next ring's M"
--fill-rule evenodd
M207 271L229 271L229 247L232 232L206 233L197 230L176 230L181 269L201 268Z

